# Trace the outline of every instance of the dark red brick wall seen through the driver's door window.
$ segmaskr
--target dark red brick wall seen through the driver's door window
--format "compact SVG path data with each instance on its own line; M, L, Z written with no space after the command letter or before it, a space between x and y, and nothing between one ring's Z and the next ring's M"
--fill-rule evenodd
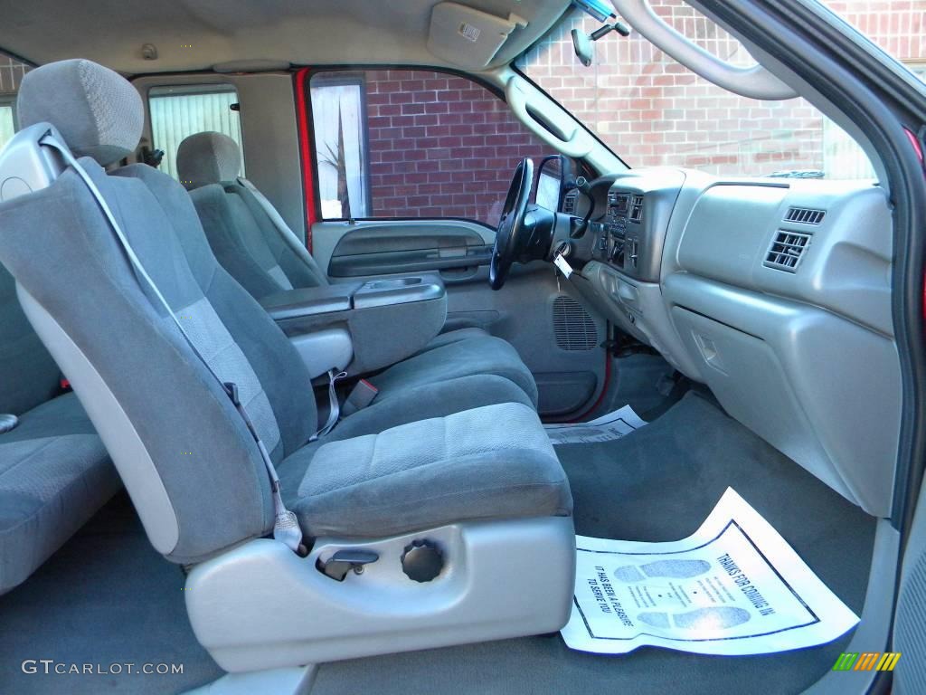
M441 72L365 73L376 217L494 223L520 158L551 150L494 94Z

